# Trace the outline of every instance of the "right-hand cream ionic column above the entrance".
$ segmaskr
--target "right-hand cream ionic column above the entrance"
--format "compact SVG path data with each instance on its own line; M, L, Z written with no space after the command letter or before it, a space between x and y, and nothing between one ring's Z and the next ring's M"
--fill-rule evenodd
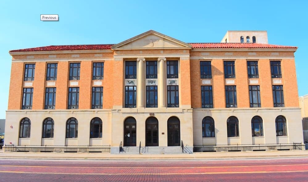
M159 61L159 78L158 78L158 107L166 107L166 84L165 84L165 61L166 58L160 57Z

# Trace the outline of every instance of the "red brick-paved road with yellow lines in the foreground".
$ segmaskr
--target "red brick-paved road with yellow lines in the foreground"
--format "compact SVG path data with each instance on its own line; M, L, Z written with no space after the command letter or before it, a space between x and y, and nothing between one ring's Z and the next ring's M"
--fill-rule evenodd
M228 160L0 159L0 181L308 181L308 158Z

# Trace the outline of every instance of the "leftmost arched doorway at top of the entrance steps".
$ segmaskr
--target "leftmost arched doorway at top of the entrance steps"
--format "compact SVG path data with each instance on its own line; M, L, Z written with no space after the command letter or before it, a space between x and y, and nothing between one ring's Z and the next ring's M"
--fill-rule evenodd
M124 121L124 147L136 146L136 120L133 117Z

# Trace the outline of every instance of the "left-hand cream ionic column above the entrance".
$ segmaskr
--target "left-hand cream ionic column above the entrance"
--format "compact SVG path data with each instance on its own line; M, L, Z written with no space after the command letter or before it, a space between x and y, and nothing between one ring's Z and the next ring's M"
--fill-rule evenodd
M137 107L144 107L144 58L137 58L138 61L138 83L137 83Z

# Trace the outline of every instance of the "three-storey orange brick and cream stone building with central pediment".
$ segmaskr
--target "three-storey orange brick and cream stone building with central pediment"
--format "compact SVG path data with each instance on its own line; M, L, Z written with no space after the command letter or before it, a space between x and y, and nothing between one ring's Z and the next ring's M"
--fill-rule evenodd
M245 33L184 43L151 30L12 50L6 144L302 143L297 47L259 43L259 33L249 31L256 43L240 43Z

